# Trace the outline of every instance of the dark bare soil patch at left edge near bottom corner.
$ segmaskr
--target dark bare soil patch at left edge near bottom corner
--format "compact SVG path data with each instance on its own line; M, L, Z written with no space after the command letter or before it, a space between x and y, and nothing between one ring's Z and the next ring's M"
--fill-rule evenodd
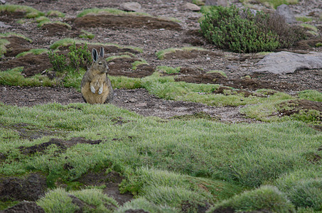
M45 194L46 188L45 177L38 173L23 178L0 178L0 199L36 201Z

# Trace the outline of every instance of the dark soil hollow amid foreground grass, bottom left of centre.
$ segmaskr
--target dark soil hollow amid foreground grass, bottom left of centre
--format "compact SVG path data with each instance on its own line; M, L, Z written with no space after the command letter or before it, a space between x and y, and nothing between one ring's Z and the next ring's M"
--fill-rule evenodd
M106 185L106 187L103 190L103 193L113 197L119 204L124 204L125 202L128 202L129 200L132 200L133 195L130 193L124 193L121 194L119 192L119 184L122 182L123 177L119 175L117 172L110 172L105 173L99 172L89 172L86 175L83 175L81 178L79 178L77 181L81 182L82 184L88 186L101 186Z

